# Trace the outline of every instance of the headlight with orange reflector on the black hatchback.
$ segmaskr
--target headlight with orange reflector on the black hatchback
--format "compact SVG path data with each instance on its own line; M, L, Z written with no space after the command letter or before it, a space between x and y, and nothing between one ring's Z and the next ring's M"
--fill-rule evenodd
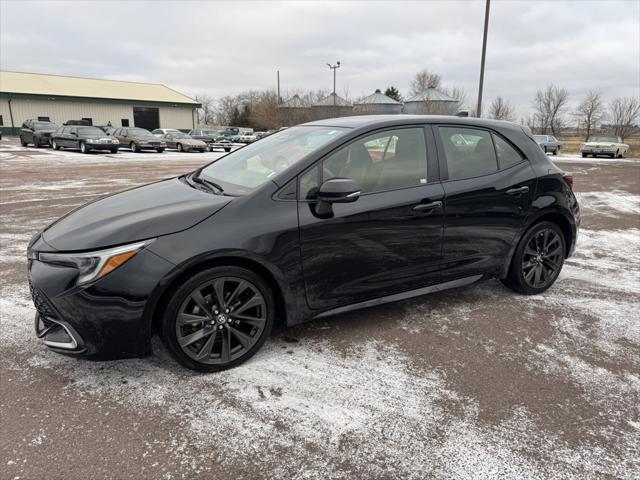
M104 277L138 254L149 241L86 253L38 253L44 263L77 268L78 285Z

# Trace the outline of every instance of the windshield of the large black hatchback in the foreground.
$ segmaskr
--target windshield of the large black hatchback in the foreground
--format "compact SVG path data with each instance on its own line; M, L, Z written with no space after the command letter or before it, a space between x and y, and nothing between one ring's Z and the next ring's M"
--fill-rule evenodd
M244 195L347 132L340 127L292 127L240 148L202 169L230 195Z

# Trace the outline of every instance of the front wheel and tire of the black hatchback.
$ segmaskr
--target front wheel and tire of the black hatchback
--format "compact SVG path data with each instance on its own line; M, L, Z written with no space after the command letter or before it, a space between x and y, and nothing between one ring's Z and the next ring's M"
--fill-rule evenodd
M220 282L226 299L222 306L217 300ZM243 310L252 302L256 304ZM234 307L244 312L246 321L235 317ZM274 317L273 293L259 275L240 267L214 267L192 276L173 292L162 319L162 339L180 364L217 372L251 358L271 333Z

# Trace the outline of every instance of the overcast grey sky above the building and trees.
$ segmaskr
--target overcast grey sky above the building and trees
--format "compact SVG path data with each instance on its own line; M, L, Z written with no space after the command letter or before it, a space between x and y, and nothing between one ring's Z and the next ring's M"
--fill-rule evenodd
M2 70L164 83L187 95L395 85L427 68L475 103L484 0L414 2L0 1ZM519 115L556 83L575 103L589 89L640 95L640 1L491 4L486 102Z

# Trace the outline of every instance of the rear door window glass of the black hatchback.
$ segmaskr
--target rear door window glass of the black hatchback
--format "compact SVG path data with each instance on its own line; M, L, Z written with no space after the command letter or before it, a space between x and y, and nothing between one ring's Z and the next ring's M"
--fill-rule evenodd
M440 127L449 180L489 175L498 171L491 134L486 130Z

